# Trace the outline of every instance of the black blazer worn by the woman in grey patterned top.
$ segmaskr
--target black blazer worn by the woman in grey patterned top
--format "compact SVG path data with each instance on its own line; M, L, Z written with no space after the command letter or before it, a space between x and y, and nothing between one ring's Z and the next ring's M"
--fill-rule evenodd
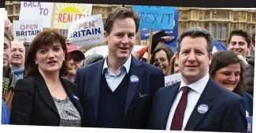
M74 83L63 78L61 84L83 121L83 108L79 100L74 98L78 88ZM19 79L14 87L10 124L59 126L60 122L58 109L43 76Z

